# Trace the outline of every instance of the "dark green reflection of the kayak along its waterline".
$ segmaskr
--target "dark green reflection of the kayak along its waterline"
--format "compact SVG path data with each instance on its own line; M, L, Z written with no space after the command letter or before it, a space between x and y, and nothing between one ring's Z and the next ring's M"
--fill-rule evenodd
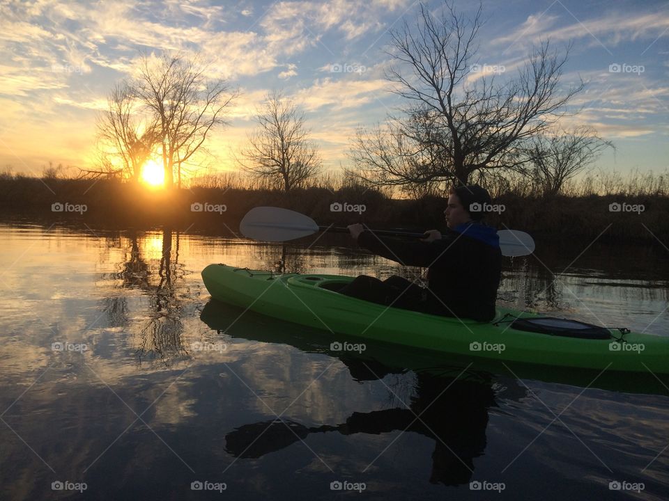
M338 358L348 367L355 381L376 381L388 374L412 371L415 374L429 374L440 378L457 377L479 381L503 392L504 399L512 400L527 396L524 383L518 383L516 378L649 395L668 393L661 379L657 379L650 372L624 377L625 374L620 372L601 373L594 369L525 363L509 365L503 360L411 349L372 340L364 340L365 350L362 353L332 350L332 334L328 331L273 319L215 299L210 299L204 305L200 319L209 328L230 337L230 340L284 344L303 353L327 354ZM354 338L346 339L353 341ZM532 383L530 386L533 386Z

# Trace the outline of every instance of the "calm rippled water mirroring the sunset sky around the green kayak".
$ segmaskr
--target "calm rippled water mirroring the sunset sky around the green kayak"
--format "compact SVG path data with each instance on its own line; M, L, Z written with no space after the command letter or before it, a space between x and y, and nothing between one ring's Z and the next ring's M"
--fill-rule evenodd
M210 301L199 276L282 257L286 271L417 272L346 239L0 234L3 500L668 498L666 378L335 357L322 333ZM500 303L668 336L669 253L584 248L507 258Z

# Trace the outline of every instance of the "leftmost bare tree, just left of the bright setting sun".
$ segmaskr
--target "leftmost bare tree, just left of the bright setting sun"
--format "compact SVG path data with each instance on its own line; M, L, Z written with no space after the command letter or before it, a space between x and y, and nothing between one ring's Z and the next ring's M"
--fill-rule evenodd
M160 138L155 118L148 116L143 121L137 112L134 89L124 81L109 93L107 111L98 116L98 144L103 150L102 157L120 158L123 172L128 173L134 182L139 181L141 168Z

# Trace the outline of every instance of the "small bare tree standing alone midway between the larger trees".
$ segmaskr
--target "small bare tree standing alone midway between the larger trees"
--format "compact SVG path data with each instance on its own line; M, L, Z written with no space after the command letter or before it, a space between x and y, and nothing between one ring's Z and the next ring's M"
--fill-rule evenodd
M304 113L279 92L268 94L249 135L243 166L285 191L304 184L321 171L316 146L309 141Z

